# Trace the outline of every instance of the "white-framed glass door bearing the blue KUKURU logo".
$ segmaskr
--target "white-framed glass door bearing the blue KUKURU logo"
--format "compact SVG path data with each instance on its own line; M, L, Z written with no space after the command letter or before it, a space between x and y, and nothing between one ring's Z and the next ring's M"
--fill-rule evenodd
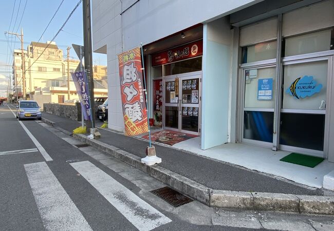
M324 156L331 60L323 57L283 63L281 149Z

